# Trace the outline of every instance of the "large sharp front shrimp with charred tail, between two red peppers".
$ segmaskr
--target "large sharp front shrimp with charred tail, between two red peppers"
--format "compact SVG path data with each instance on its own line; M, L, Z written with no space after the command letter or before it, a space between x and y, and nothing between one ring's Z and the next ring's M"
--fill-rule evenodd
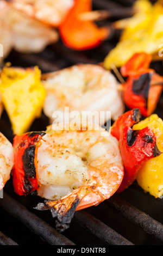
M52 125L37 151L37 193L46 198L36 209L51 209L58 216L57 229L71 222L74 211L108 199L123 179L123 163L117 139L97 124L61 131Z

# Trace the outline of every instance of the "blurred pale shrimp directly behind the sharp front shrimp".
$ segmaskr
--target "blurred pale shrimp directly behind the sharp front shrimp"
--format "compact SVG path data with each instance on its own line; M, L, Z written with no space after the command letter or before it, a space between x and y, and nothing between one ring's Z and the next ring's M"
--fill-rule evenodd
M42 75L46 89L44 113L53 123L54 111L110 111L115 120L124 111L117 81L99 65L79 64ZM104 122L107 120L103 120ZM100 123L103 125L103 123Z

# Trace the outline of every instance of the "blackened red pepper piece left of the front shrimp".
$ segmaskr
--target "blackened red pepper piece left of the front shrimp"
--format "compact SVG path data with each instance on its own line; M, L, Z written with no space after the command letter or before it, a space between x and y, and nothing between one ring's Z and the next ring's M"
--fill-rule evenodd
M20 196L29 194L39 187L37 182L37 149L45 132L27 132L15 136L14 169L12 172L14 190Z

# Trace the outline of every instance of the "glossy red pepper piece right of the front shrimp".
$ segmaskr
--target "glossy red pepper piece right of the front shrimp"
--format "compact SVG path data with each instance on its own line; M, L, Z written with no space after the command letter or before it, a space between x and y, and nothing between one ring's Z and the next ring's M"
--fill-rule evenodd
M142 130L131 129L140 121L140 117L139 109L133 109L121 115L111 127L111 135L119 141L124 165L124 178L118 193L133 183L145 161L161 154L156 146L156 136L149 127Z

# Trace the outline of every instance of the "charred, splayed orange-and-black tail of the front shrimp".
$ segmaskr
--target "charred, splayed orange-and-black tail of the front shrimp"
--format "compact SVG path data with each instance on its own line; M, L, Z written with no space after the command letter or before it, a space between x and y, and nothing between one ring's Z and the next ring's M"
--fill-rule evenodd
M80 200L77 193L71 193L69 196L57 201L45 200L43 203L37 204L35 209L50 210L53 218L55 218L55 228L61 233L70 227L71 220Z

